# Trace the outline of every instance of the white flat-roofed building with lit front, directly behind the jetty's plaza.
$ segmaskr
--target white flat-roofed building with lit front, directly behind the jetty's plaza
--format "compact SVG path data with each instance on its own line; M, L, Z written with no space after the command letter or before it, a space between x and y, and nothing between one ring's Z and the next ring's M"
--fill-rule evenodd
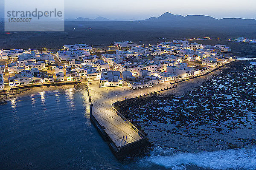
M100 87L122 86L122 83L119 71L105 71L101 75Z

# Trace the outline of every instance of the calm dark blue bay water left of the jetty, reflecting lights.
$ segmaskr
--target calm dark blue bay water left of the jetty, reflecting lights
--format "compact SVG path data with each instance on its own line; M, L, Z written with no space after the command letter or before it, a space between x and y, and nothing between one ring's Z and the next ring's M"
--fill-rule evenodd
M90 122L86 93L42 92L0 105L0 170L118 169Z

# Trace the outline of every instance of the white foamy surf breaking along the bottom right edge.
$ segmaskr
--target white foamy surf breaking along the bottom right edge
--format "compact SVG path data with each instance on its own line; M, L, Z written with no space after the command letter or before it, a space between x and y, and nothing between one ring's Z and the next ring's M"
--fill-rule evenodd
M200 153L166 152L159 147L153 152L146 158L149 166L158 165L172 170L184 170L189 166L212 170L256 170L256 147Z

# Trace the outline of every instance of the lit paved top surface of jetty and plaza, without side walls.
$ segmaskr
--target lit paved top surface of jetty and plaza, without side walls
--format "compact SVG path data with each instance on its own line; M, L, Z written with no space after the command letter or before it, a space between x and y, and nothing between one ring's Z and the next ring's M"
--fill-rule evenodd
M93 116L101 126L105 127L105 132L116 144L116 147L135 142L142 137L119 115L113 112L112 103L118 100L122 101L128 98L150 94L151 92L160 91L160 89L166 89L167 87L169 87L169 82L141 90L132 90L128 86L99 88L99 81L94 81L90 85L89 90L93 104Z

